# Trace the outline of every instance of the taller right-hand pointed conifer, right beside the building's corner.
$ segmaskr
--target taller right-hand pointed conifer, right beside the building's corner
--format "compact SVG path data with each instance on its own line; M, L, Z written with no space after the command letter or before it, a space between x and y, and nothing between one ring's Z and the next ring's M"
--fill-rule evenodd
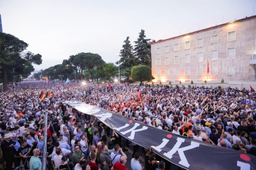
M141 29L138 41L134 41L134 56L137 63L151 67L151 46L150 39L145 39L145 31Z

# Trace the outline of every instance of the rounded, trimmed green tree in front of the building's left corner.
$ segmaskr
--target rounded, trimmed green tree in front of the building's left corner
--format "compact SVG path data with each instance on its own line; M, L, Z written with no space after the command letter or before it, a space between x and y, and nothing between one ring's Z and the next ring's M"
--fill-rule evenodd
M131 76L132 81L140 81L140 84L142 84L142 81L151 80L151 69L144 65L134 66L132 67Z

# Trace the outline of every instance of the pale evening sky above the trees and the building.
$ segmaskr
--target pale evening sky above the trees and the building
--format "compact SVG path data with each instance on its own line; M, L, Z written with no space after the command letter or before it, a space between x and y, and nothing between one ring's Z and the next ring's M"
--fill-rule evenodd
M134 45L141 29L157 41L256 15L254 8L255 0L0 0L3 32L42 55L35 70L81 52L115 63L126 37Z

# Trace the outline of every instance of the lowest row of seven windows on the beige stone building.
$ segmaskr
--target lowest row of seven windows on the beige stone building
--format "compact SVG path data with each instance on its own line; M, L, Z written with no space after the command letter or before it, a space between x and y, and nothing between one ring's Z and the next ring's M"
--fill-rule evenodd
M209 68L209 74L211 75L218 75L218 66L212 66ZM235 66L227 66L227 74L232 75L235 74ZM180 69L174 69L174 75L179 76L180 75ZM190 68L185 68L185 75L190 76ZM197 67L196 68L196 75L202 76L203 73L203 67ZM161 70L157 70L157 76L161 77ZM165 70L165 76L170 76L170 69Z

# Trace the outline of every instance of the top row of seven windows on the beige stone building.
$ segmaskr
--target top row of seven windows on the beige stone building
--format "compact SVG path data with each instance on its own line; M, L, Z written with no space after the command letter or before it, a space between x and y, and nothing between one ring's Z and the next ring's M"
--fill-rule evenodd
M219 41L218 35L211 36L211 45L217 44ZM227 34L227 41L236 41L236 31L228 32ZM200 38L196 40L196 47L204 46L204 39ZM190 47L190 41L185 42L185 50L188 50ZM179 43L174 45L174 51L179 51ZM164 46L164 53L169 52L169 46ZM156 48L156 54L161 53L161 48Z

